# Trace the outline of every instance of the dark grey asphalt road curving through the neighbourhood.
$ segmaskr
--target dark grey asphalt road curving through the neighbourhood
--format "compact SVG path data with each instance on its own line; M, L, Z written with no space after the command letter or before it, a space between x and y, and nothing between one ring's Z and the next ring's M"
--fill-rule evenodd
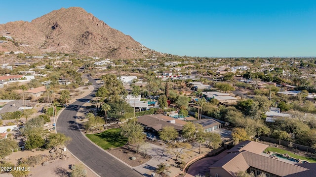
M67 146L69 151L101 177L141 177L140 174L93 145L79 131L75 120L76 114L85 102L94 97L96 88L98 88L95 80L89 80L93 83L95 89L60 113L56 122L57 131L72 138Z

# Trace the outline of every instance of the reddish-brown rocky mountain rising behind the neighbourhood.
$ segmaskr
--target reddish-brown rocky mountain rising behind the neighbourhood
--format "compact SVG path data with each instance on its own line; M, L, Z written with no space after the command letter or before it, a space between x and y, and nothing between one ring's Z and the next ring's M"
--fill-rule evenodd
M31 22L0 24L0 31L14 39L0 43L0 51L77 53L111 59L145 58L152 52L80 7L54 10Z

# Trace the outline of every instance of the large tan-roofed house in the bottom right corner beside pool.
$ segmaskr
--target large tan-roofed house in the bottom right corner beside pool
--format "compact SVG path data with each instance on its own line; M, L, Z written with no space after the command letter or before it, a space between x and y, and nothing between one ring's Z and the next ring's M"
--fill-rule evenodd
M268 147L253 141L243 141L227 151L227 155L211 165L211 177L236 177L244 171L266 177L315 177L316 163L291 163L263 151Z

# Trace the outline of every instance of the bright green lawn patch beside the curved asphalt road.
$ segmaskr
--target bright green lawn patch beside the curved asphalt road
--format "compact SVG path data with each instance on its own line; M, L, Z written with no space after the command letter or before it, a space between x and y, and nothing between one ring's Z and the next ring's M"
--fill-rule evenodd
M105 130L102 133L86 135L93 143L103 149L122 147L127 143L127 139L120 134L120 128L112 128Z

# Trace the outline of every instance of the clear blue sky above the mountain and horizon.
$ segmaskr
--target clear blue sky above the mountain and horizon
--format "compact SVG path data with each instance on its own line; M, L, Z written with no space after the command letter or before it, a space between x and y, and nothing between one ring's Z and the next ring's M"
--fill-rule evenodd
M314 0L7 0L0 24L72 6L162 53L316 56Z

